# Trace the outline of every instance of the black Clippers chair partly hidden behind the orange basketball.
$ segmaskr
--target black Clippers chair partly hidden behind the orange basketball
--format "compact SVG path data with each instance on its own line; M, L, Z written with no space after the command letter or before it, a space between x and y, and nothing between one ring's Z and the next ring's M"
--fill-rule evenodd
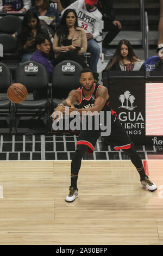
M48 74L45 67L37 62L24 62L16 70L15 82L24 84L29 96L23 102L15 104L16 119L19 121L23 115L44 118L45 113L49 119ZM34 92L41 93L41 97L33 99Z

